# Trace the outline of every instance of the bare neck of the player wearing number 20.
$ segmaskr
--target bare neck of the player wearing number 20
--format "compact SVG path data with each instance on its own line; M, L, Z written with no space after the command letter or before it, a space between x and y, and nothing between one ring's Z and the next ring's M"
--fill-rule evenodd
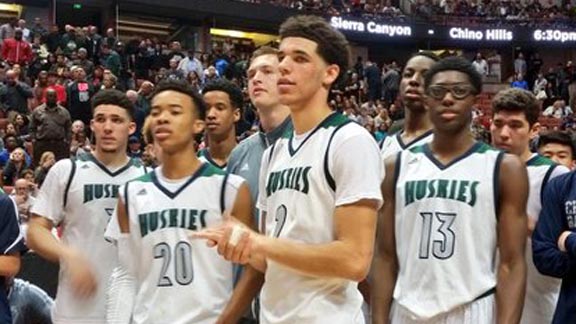
M182 179L193 175L202 162L196 156L194 144L190 147L173 153L163 152L162 154L162 175L166 179Z

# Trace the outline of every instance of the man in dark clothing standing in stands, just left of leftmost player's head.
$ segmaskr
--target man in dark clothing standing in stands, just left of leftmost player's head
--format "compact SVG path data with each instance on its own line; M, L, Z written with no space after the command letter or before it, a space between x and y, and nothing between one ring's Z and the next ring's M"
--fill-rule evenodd
M56 91L48 90L46 103L34 110L30 120L34 165L46 151L53 152L57 161L70 156L71 124L68 110L58 105Z

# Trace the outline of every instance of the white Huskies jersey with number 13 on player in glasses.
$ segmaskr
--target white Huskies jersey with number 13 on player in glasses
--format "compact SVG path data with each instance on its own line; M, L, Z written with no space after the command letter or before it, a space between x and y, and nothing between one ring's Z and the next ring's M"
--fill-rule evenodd
M494 291L503 154L478 142L447 165L429 145L399 155L394 299L415 319L430 319Z

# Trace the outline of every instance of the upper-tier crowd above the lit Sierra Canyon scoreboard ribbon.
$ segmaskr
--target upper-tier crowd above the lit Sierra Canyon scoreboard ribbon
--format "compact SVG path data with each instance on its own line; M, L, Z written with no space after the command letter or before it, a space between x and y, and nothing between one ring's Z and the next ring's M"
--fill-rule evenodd
M235 0L268 3L329 16L395 21L424 20L438 24L573 25L576 7L570 1L541 0L407 0L410 12L390 0ZM472 19L470 19L472 18Z

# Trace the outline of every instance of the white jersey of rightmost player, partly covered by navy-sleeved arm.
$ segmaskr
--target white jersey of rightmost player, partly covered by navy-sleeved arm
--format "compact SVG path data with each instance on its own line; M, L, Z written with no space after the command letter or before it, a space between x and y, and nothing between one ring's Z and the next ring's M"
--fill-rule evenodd
M533 154L526 162L530 191L528 196L528 217L537 222L542 209L542 192L544 186L554 176L568 172L567 168L560 167L551 160ZM532 241L528 238L526 246L527 284L522 324L540 324L552 322L560 284L562 281L538 272L532 261Z

